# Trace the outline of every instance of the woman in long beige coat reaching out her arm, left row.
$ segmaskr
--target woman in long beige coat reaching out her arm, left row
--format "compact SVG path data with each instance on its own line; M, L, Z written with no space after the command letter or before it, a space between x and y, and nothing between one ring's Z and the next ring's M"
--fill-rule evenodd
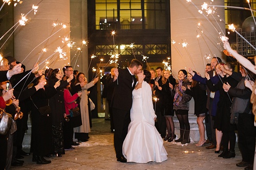
M91 132L91 129L90 129L90 121L89 121L87 89L94 86L94 84L96 84L98 80L99 78L97 77L93 81L87 84L87 78L84 77L84 74L82 72L79 72L76 77L75 85L85 82L85 85L82 87L82 94L81 94L80 103L79 103L82 125L77 128L74 128L75 138L78 139L78 141L84 142L89 139L89 133Z

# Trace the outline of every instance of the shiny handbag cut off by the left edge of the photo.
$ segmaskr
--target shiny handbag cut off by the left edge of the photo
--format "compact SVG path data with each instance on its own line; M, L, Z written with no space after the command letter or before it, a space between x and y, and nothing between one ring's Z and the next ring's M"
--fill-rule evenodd
M3 109L0 110L0 134L6 135L12 125L12 115L6 113Z

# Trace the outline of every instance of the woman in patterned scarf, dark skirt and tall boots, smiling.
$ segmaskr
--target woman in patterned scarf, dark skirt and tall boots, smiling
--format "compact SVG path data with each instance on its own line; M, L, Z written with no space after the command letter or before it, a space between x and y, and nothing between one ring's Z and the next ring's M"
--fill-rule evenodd
M190 143L189 133L190 125L188 122L188 110L189 110L189 101L192 96L185 93L187 86L190 86L190 82L187 80L187 71L181 69L178 72L178 82L173 87L170 85L171 89L175 90L174 96L174 109L177 115L177 118L180 123L180 138L175 140L175 142L181 142L182 144Z

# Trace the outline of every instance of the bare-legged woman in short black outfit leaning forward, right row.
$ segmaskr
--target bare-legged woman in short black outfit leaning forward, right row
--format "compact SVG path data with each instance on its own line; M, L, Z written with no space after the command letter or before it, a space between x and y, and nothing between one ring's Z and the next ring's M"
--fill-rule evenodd
M193 96L195 101L195 114L197 115L197 124L200 134L200 140L196 144L196 147L202 147L204 143L206 142L204 138L204 118L207 114L207 108L206 108L206 102L207 102L207 95L206 95L206 85L200 84L197 81L192 79L192 75L188 74L187 79L189 82L191 82L191 86L188 86L187 88L189 90L185 90L185 93Z

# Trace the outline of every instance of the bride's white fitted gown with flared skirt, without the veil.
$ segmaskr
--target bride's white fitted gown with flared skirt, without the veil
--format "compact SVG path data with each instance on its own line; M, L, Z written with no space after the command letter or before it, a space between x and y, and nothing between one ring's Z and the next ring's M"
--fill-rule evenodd
M144 116L150 113L143 113L142 101L147 101L142 99L142 89L134 89L131 123L123 142L123 155L127 162L162 162L167 159L163 139L155 128L154 118L148 120Z

